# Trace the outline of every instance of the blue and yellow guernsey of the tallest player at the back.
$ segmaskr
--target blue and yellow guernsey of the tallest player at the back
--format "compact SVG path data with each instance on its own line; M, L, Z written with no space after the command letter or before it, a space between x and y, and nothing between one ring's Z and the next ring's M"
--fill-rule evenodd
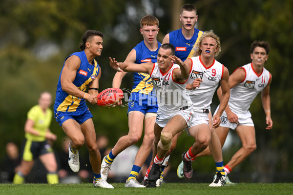
M194 34L192 38L185 39L185 37L182 35L181 28L170 32L169 43L175 47L175 56L180 58L182 61L191 57L195 57L195 45L203 34L203 31L194 28Z

